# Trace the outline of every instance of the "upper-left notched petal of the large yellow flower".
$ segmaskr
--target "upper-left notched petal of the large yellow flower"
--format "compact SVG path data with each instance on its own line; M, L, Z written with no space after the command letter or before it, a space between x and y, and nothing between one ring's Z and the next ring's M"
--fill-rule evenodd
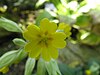
M34 38L37 38L37 35L40 33L39 27L36 25L29 25L27 27L27 30L23 32L23 37L26 40L33 40Z

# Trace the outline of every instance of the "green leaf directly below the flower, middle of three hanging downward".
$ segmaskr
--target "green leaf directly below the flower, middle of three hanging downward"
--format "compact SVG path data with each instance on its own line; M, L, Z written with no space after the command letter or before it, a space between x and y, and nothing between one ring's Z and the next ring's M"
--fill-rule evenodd
M45 61L42 58L38 61L37 75L46 75Z

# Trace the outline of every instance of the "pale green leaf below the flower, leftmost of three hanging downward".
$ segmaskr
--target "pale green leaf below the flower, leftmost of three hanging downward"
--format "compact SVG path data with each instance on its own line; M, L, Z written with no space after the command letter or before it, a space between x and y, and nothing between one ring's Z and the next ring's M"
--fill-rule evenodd
M28 58L26 65L25 65L25 72L24 75L31 75L32 70L34 69L35 66L35 59L33 58Z

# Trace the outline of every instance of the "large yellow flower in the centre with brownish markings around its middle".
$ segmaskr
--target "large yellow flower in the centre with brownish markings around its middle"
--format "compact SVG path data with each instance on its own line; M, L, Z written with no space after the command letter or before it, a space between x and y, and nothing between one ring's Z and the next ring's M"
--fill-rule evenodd
M57 25L50 22L47 18L40 22L40 27L29 25L23 32L23 36L28 43L25 51L29 57L36 58L39 55L46 61L58 57L58 48L64 48L66 35L63 32L56 32Z

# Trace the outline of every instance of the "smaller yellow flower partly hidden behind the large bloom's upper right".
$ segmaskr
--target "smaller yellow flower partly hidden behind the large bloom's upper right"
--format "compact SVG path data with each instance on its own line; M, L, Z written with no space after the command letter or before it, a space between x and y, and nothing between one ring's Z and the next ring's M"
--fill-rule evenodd
M66 37L69 37L71 35L71 27L68 24L60 23L58 30L65 32Z

